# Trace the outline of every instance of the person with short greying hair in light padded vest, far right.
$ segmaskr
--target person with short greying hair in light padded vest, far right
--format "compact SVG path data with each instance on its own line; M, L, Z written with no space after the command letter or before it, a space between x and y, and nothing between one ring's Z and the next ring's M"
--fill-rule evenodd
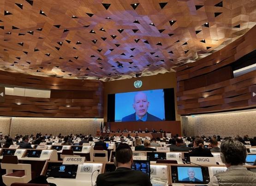
M208 186L255 186L256 173L243 166L247 151L243 143L227 139L220 144L221 160L227 170L215 174Z

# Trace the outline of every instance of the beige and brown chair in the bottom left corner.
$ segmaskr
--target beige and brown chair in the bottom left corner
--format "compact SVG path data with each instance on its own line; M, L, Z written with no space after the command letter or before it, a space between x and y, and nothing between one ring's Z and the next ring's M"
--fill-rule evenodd
M6 174L2 175L6 186L11 186L15 182L28 183L32 179L31 164L18 163L17 156L3 156L1 169L6 169Z

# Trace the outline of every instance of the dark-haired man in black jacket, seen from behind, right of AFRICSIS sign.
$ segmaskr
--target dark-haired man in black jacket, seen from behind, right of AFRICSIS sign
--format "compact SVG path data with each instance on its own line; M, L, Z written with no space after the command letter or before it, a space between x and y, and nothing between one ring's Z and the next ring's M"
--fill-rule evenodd
M132 159L131 147L121 143L116 148L115 165L117 169L110 173L98 175L97 186L152 186L149 176L137 170L131 170Z

